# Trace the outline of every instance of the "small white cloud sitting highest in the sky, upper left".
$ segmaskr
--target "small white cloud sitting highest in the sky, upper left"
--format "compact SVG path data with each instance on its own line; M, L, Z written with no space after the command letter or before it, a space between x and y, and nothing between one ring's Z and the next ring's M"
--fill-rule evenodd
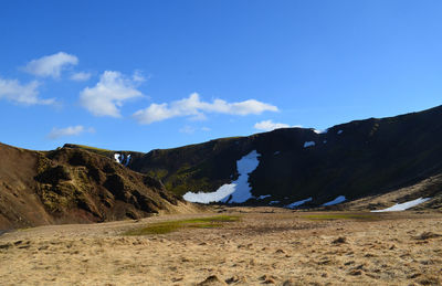
M75 55L59 52L52 55L45 55L38 60L32 60L24 66L24 71L42 77L60 77L62 70L69 65L76 65L78 59Z

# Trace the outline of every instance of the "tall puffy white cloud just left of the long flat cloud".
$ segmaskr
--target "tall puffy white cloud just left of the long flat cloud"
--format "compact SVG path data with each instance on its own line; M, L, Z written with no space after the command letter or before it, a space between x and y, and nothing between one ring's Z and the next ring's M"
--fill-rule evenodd
M119 72L105 71L94 87L80 93L80 102L95 116L120 117L123 102L143 96L136 83Z

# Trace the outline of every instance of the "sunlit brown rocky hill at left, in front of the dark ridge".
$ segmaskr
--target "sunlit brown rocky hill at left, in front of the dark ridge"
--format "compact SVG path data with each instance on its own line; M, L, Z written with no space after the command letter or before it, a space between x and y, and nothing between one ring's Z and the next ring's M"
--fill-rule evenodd
M31 151L0 144L0 230L103 222L192 206L149 176L82 148Z

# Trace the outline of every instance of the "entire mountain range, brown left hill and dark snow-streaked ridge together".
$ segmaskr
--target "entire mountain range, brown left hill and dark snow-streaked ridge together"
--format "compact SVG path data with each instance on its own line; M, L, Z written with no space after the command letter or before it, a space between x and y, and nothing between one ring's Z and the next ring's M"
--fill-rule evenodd
M147 153L0 144L0 230L199 208L186 200L442 210L442 106L323 133L283 128Z

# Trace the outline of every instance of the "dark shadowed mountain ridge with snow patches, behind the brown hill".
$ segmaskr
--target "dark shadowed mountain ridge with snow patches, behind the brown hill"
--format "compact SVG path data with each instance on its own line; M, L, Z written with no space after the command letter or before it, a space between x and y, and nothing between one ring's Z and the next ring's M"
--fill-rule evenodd
M130 157L124 163L131 170L157 178L169 191L187 194L197 202L218 198L253 205L332 205L380 195L442 174L442 106L355 120L324 133L283 128L148 153L119 153L123 159ZM113 158L115 153L107 156ZM255 163L254 168L249 170L248 162ZM242 173L241 168L250 174ZM249 184L250 189L244 190ZM431 191L421 188L394 202L421 195L435 198L440 187L432 187ZM232 195L220 199L231 191Z

